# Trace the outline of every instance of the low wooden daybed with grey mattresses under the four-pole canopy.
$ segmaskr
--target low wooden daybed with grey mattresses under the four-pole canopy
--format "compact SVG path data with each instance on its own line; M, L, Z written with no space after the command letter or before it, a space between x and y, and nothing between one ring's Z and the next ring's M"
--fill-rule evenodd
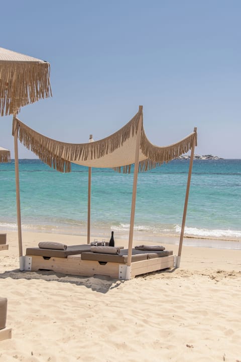
M128 249L119 249L118 254L107 254L91 251L90 244L72 245L66 250L27 248L24 268L32 271L53 270L84 277L104 275L125 280ZM174 266L175 256L172 251L132 249L131 277Z

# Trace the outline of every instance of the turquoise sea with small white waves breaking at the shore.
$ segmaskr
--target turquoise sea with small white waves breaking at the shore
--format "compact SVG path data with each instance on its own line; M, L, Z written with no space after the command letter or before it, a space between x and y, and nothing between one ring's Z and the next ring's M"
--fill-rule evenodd
M159 242L180 235L189 161L173 160L138 175L134 239ZM23 231L86 235L88 168L58 172L39 159L20 159ZM128 238L130 174L91 170L91 235ZM15 162L0 164L0 230L17 230ZM185 226L189 245L241 249L241 160L194 160Z

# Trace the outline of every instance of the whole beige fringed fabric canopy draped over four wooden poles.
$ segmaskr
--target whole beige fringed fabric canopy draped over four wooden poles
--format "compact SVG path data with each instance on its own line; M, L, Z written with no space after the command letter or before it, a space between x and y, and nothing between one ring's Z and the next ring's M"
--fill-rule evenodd
M141 122L141 143L139 152L139 171L169 162L189 151L196 145L197 133L183 138L169 146L158 147L147 138L143 128L142 106L138 113L123 128L99 141L72 144L53 140L34 131L16 117L13 121L13 135L29 150L33 151L43 162L61 172L71 171L71 162L88 167L111 167L116 171L127 173L135 163L137 130Z

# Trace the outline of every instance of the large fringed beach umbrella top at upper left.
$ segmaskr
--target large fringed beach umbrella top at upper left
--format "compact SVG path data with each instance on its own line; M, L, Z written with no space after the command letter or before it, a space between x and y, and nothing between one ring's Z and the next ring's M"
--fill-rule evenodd
M0 48L0 115L52 96L50 64Z

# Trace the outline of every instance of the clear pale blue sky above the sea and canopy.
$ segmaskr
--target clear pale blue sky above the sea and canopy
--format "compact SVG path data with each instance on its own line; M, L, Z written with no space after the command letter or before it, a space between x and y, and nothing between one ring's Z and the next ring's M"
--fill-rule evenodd
M103 138L144 107L160 146L198 130L197 154L241 158L241 1L1 3L1 45L51 64L53 97L22 122L64 142ZM0 145L14 157L12 117ZM20 158L36 156L23 146Z

